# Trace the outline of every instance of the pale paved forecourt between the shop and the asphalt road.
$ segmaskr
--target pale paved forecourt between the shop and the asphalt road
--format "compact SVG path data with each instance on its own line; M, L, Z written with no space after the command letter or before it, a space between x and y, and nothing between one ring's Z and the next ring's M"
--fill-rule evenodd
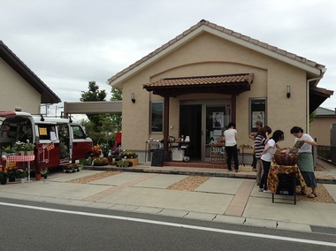
M271 194L258 192L255 172L139 165L88 184L68 182L101 172L96 168L56 172L41 181L7 183L0 186L0 198L336 235L336 203L298 201L294 205L293 196L287 195L276 195L272 203ZM336 167L319 162L316 173L328 178L320 182L336 202ZM210 179L192 192L167 189L195 174Z

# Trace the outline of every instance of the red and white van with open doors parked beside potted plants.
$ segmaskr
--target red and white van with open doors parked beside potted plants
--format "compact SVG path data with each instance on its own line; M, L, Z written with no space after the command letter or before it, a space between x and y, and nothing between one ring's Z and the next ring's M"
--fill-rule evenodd
M76 163L91 154L92 140L72 118L49 118L27 112L0 111L0 151L18 141L34 144L32 170Z

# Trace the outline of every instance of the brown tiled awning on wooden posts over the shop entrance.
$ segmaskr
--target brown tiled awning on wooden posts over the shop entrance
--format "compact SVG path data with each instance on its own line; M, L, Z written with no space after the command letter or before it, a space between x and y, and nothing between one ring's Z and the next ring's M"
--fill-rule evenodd
M239 95L250 90L253 78L253 73L169 78L149 82L144 84L143 88L161 96L178 96L193 93Z

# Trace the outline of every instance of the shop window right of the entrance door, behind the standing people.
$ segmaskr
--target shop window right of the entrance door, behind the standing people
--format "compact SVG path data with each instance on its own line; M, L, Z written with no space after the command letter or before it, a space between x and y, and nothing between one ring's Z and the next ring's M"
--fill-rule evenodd
M249 100L249 131L256 133L256 121L263 122L263 126L266 124L266 99L250 99Z

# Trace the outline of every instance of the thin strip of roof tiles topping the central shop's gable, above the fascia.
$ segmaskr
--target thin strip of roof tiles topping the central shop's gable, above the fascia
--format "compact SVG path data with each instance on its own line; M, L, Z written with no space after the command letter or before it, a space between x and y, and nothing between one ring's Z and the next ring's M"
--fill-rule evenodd
M317 64L317 62L315 61L312 61L312 60L309 60L307 59L306 57L301 57L301 56L298 56L294 53L291 53L291 52L288 52L286 51L285 49L279 49L278 47L276 46L272 46L266 42L260 42L259 40L256 40L248 35L244 35L244 34L241 34L241 33L237 33L237 32L234 32L233 30L231 29L227 29L225 27L221 27L221 26L218 26L217 24L215 23L211 23L210 21L208 20L205 20L205 19L202 19L201 21L199 21L197 24L195 24L194 26L192 27L189 27L187 30L185 30L183 33L175 36L172 40L170 40L169 42L166 42L164 43L161 47L155 49L154 51L150 52L147 56L145 57L141 57L140 60L136 61L134 64L132 65L129 65L128 67L126 67L124 70L120 71L120 72L117 72L115 75L113 75L108 81L111 83L113 80L117 80L120 76L122 76L123 74L125 74L126 72L129 72L131 71L132 69L134 69L134 67L138 66L138 65L141 65L143 62L149 60L149 58L151 57L154 57L155 55L157 55L159 52L163 51L164 49L167 49L168 47L170 47L173 43L175 42L178 42L179 40L181 40L182 38L184 38L187 34L190 34L192 33L193 31L195 31L195 29L199 28L199 27L202 27L202 26L206 26L206 27L210 27L210 28L213 28L213 29L216 29L218 30L219 32L222 32L222 33L225 33L225 34L229 34L229 35L232 35L234 37L237 37L237 38L240 38L241 40L243 41L246 41L246 42L250 42L256 46L259 46L259 47L262 47L264 49L269 49L275 53L278 53L279 55L282 55L282 56L285 56L285 57L289 57L289 58L292 58L296 61L299 61L305 65L309 65L309 66L312 66L312 67L315 67L319 70L321 69L324 69L325 68L325 65L320 65L320 64Z

